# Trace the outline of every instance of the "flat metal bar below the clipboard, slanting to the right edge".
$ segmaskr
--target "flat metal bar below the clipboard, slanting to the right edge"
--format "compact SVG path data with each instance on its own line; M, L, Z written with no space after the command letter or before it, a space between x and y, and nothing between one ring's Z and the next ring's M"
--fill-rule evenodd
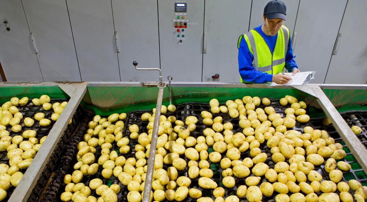
M338 131L339 135L344 140L353 156L357 159L363 170L367 172L367 149L364 148L364 145L359 141L352 129L349 128L348 124L331 103L329 98L327 98L324 92L320 89L320 87L317 85L293 87L316 97L316 101L326 113L327 117L331 120L331 123L333 123L335 129Z

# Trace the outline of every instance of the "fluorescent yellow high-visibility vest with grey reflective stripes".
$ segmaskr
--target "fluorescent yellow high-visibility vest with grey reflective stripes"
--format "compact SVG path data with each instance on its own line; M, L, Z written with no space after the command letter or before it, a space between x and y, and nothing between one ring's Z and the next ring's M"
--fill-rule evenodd
M241 39L244 38L248 49L254 55L252 66L255 70L269 74L278 74L283 72L286 64L286 53L288 48L289 30L282 25L277 34L273 54L264 38L254 29L250 30L238 39L237 47L240 48ZM241 78L241 82L245 82Z

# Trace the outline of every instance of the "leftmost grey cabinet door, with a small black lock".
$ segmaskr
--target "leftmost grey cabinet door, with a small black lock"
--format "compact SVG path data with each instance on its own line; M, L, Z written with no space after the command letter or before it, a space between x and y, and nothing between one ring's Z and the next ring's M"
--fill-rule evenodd
M7 19L10 30L6 30ZM21 0L2 0L0 62L8 82L43 81Z

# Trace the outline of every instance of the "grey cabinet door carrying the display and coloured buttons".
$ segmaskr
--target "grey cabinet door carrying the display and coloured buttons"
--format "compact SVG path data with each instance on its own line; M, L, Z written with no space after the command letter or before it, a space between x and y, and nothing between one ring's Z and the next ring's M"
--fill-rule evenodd
M158 0L158 17L163 79L201 82L204 0Z

